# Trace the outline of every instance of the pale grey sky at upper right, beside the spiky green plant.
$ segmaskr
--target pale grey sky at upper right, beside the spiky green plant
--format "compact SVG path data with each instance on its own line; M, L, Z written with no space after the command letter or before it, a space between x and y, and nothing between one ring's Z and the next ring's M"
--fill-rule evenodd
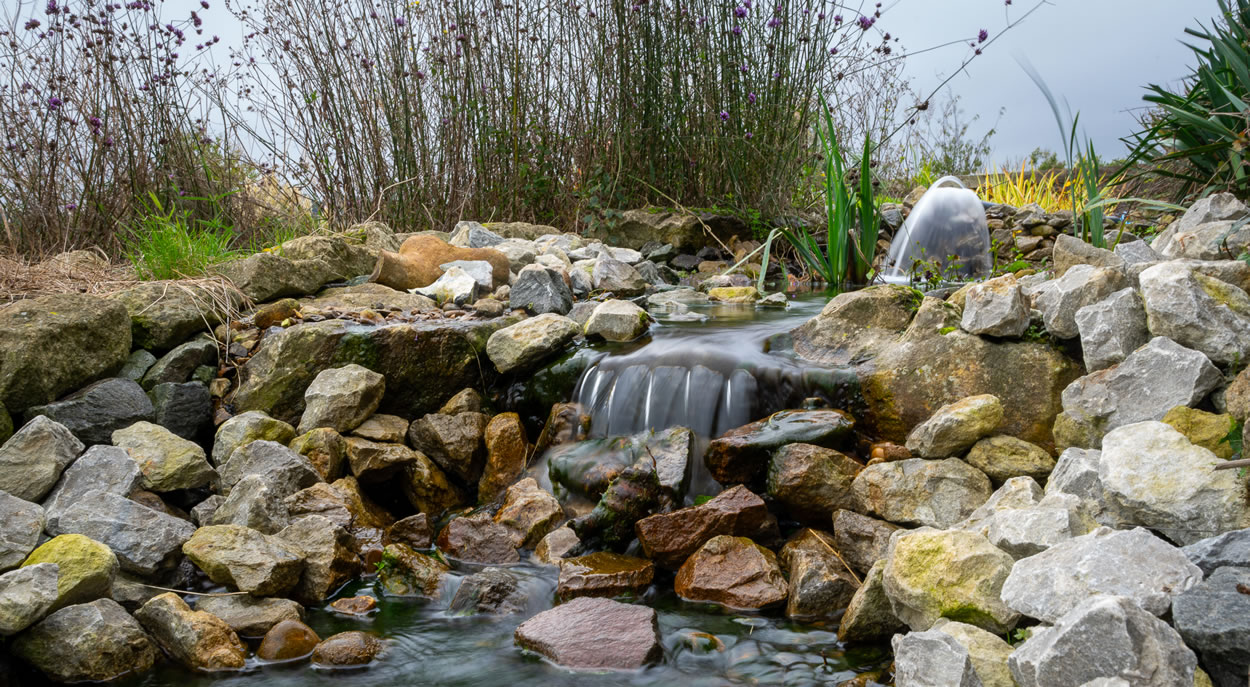
M1011 16L1035 2L1014 0ZM890 2L886 2L890 6ZM1059 127L1041 91L1016 62L1032 62L1058 96L1079 111L1099 155L1120 157L1119 139L1134 129L1134 109L1142 107L1146 84L1175 84L1192 67L1192 52L1180 40L1186 26L1210 25L1215 0L1050 0L999 39L955 76L950 87L969 115L979 114L984 131L998 120L991 139L995 161L1018 161L1035 147L1059 150ZM901 37L909 51L951 36L991 34L1006 22L1002 0L899 0L881 19L884 30ZM959 66L968 47L918 55L908 74L928 94ZM1000 107L1006 107L998 119Z

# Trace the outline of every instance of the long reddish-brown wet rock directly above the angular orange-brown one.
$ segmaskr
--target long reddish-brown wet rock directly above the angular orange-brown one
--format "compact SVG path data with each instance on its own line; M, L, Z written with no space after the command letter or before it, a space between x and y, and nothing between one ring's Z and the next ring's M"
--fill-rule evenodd
M764 500L739 485L701 506L645 517L634 531L648 558L676 570L708 540L720 535L755 535L768 516Z

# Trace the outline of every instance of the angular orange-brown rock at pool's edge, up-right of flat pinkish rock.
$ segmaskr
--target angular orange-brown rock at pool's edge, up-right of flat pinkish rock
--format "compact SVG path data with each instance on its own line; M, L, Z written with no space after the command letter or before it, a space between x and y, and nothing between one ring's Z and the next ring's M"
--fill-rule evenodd
M678 596L729 608L764 608L786 600L788 586L776 556L746 537L719 536L678 571Z

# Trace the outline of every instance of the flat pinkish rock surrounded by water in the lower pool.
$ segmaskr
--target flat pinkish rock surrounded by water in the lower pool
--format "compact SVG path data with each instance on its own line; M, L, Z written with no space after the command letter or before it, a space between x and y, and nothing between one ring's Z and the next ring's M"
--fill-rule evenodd
M516 628L516 643L566 668L629 671L664 657L654 608L579 597Z

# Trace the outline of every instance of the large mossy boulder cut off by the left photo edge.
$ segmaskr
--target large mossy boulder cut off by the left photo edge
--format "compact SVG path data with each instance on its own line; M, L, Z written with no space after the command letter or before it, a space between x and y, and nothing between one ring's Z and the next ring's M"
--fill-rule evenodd
M130 356L130 315L86 294L0 307L0 405L18 413L120 370Z

